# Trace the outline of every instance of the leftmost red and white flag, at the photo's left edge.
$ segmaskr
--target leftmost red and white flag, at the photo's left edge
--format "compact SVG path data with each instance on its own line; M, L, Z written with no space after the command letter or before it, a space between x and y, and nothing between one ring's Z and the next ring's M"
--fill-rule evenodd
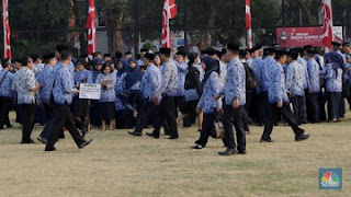
M12 59L10 43L9 0L2 0L3 57Z

